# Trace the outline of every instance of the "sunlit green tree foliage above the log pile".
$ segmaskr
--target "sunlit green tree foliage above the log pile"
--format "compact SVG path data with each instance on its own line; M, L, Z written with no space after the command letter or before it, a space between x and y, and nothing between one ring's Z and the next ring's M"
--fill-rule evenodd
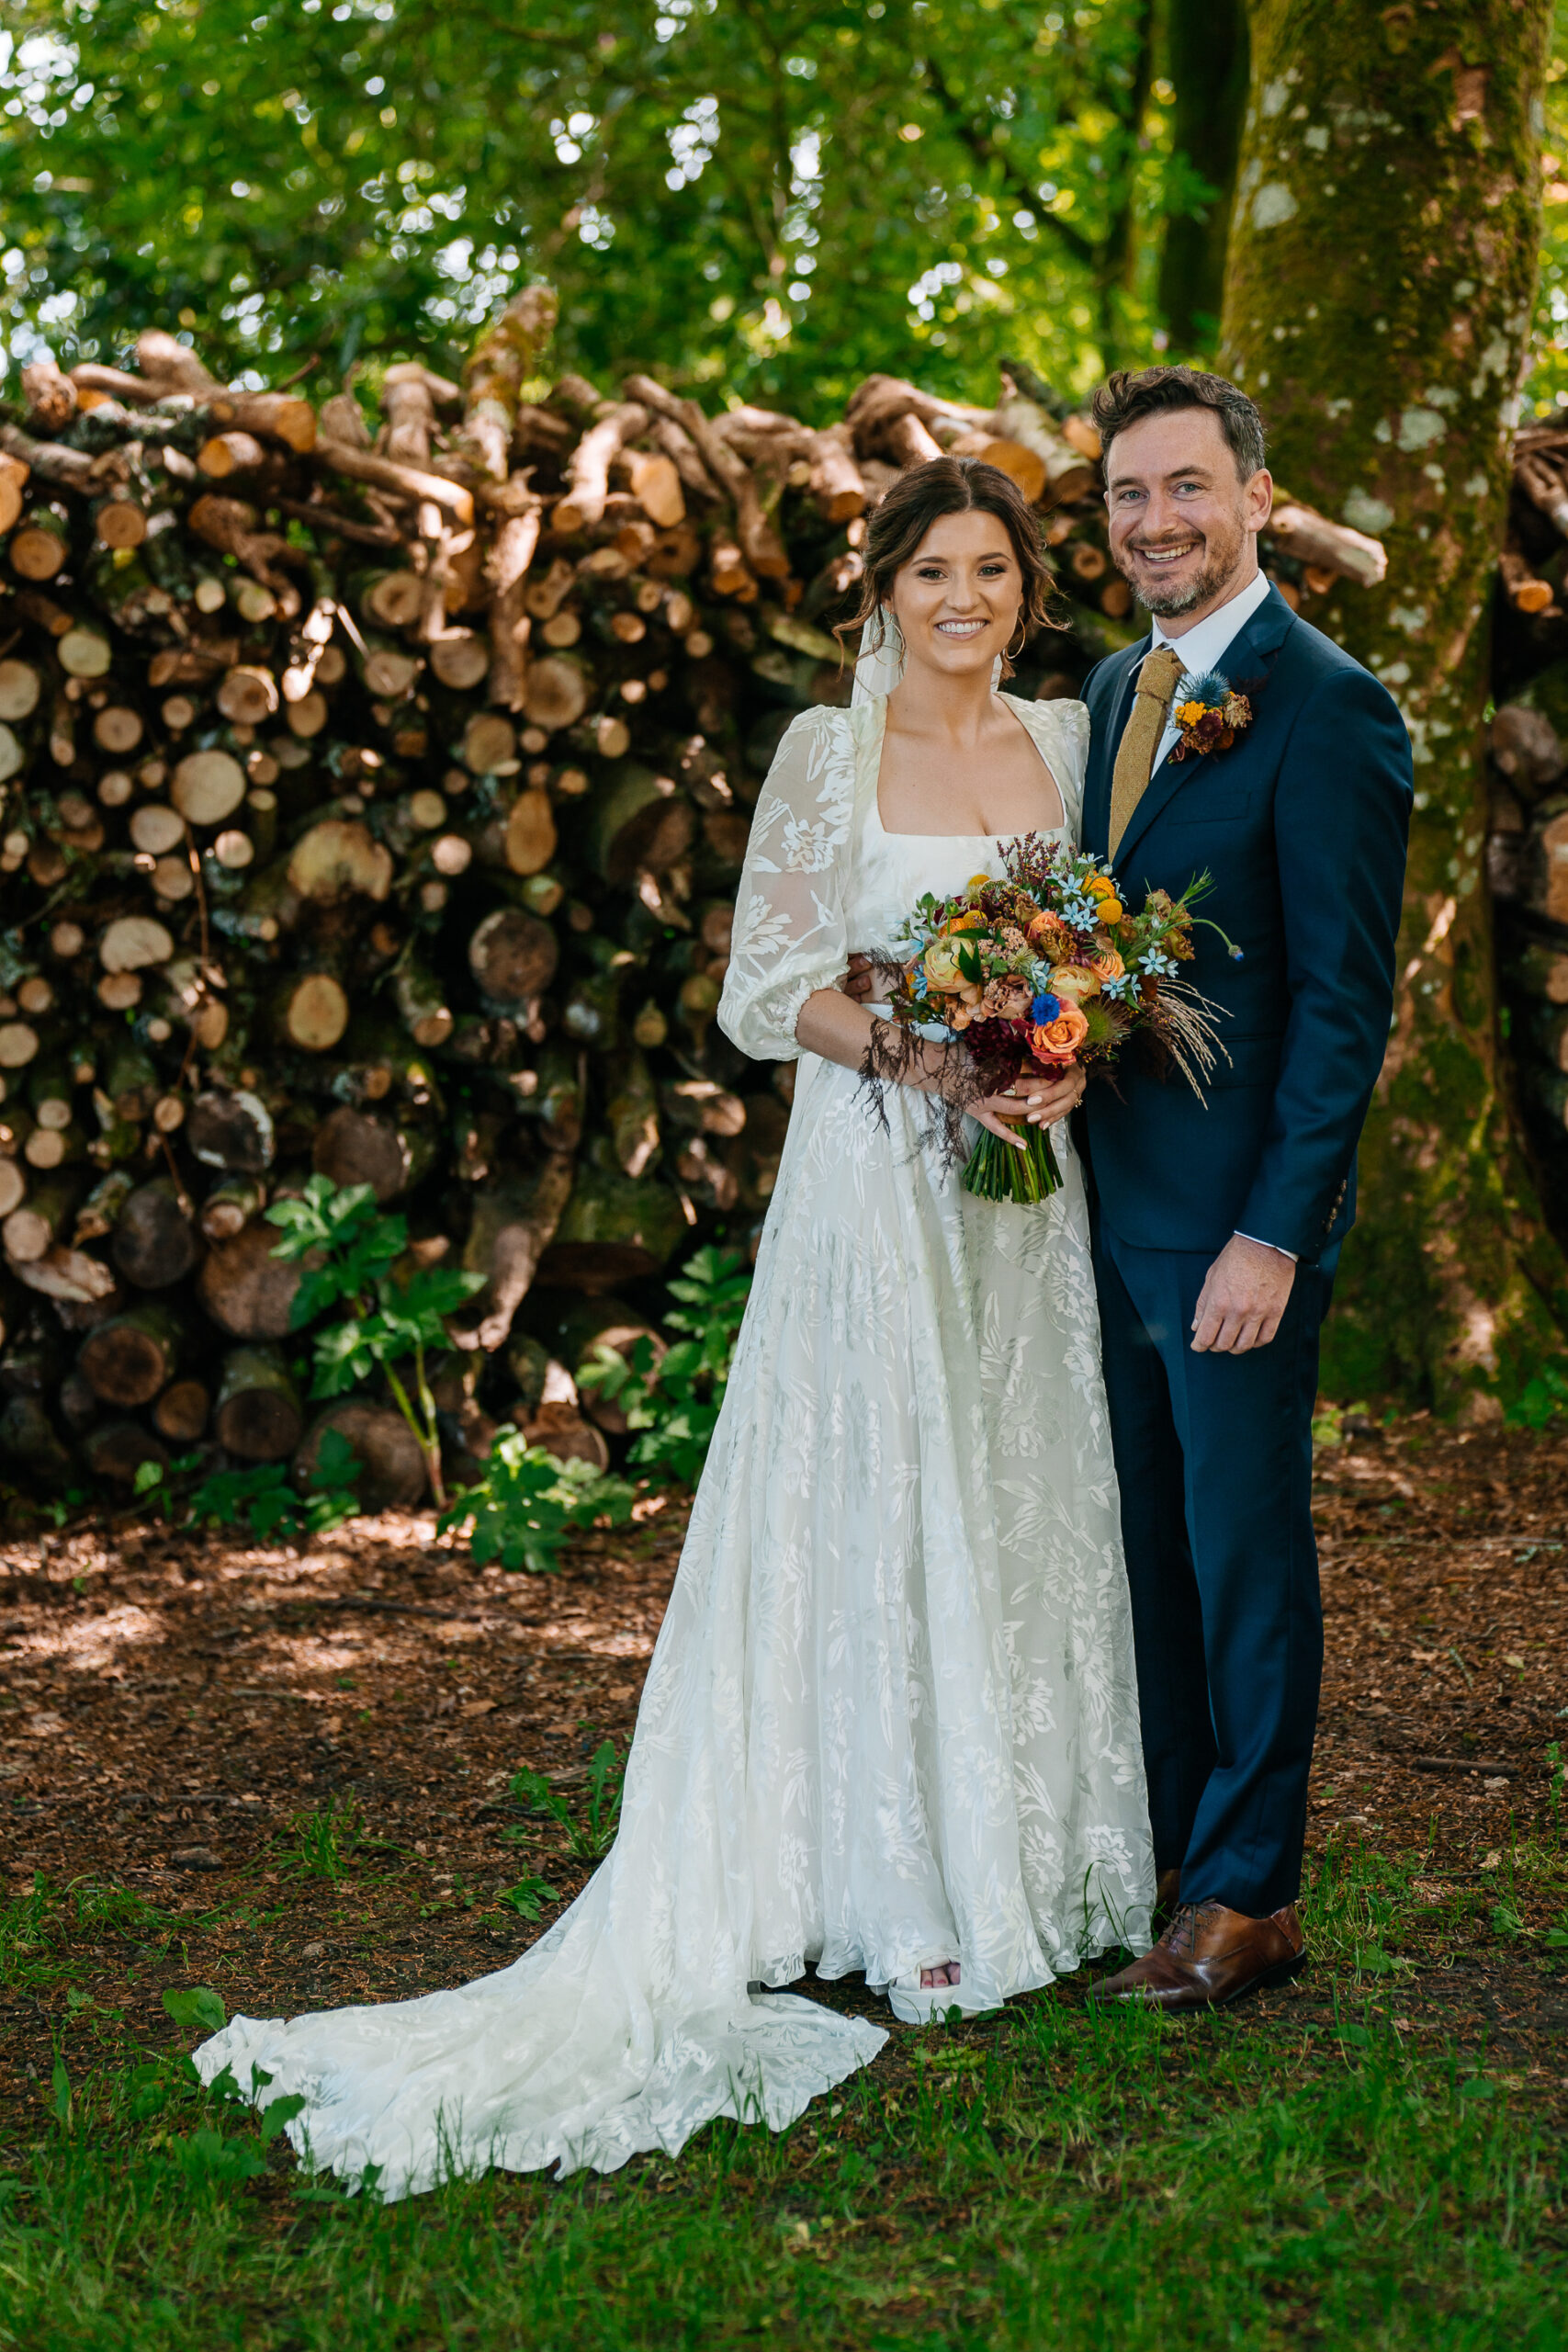
M14 0L12 346L136 325L221 374L428 350L529 273L559 365L745 397L875 367L992 397L1152 355L1168 155L1147 0ZM14 47L12 47L14 42Z

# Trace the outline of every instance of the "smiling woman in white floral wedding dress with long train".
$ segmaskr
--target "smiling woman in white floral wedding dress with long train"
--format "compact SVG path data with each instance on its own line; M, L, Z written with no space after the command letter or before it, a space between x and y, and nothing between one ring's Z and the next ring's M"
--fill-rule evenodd
M296 2150L383 2197L614 2171L719 2114L785 2129L886 2042L776 1990L809 1962L919 2020L1150 1943L1081 1171L1056 1124L1048 1202L964 1192L922 1098L959 1091L957 1049L929 1042L879 1120L877 1014L837 985L922 891L1074 830L1088 713L994 691L1048 579L1006 475L905 473L865 536L879 654L851 710L792 722L757 802L719 1021L799 1061L795 1110L609 1860L510 1969L235 2018L195 2053L301 2093ZM997 1134L1025 1115L971 1108Z

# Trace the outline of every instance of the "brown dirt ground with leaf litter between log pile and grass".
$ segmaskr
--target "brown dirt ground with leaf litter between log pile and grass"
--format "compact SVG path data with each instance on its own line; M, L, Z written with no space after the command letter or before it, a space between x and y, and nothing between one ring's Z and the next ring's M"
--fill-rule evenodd
M179 1957L122 1945L89 1987L158 2042L169 1983L277 2013L505 1964L555 1907L527 1922L498 1891L538 1872L567 1900L588 1875L555 1830L529 1828L510 1773L581 1795L595 1748L632 1731L684 1526L675 1503L639 1512L552 1578L477 1571L428 1515L362 1519L308 1550L148 1517L0 1543L9 1893L42 1872L179 1915ZM1568 1435L1352 1423L1319 1454L1316 1524L1328 1672L1312 1849L1342 1832L1418 1856L1434 1926L1399 2004L1568 2086L1561 1969L1495 1938L1479 1950L1462 1926L1514 1839L1547 1830L1544 1755L1568 1745ZM308 1875L294 1816L350 1799L381 1844L341 1877ZM1521 1882L1521 1922L1549 1924L1530 1900ZM825 1990L867 2002L860 1985ZM1321 1997L1307 1978L1269 1999L1305 2002L1305 2020ZM0 2110L47 2084L61 1999L0 2006Z

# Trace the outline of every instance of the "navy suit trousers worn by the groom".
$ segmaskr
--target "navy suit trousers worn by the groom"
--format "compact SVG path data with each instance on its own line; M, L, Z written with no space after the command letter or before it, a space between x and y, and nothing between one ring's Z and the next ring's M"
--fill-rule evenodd
M1312 1406L1333 1277L1298 1265L1267 1348L1194 1355L1213 1251L1095 1216L1154 1865L1253 1919L1300 1893L1324 1672ZM1338 1258L1338 1251L1335 1251Z

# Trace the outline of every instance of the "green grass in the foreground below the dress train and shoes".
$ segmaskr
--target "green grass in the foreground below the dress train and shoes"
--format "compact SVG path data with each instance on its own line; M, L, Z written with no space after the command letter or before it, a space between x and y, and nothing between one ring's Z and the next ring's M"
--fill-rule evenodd
M1561 1846L1512 1863L1516 1912L1547 1917ZM1098 2018L1053 1987L898 2037L783 2138L724 2124L609 2180L491 2176L390 2209L301 2176L179 2051L113 2046L113 2013L89 2030L94 2004L24 1952L9 1994L47 1999L59 2060L0 2171L0 2343L1556 2352L1561 2129L1502 2060L1401 2034L1422 2023L1406 1955L1448 1933L1418 1877L1331 1851L1312 1994L1269 2023ZM85 1891L31 1900L28 1950L82 1973L150 1924L101 1889L87 1912ZM1526 1933L1488 1950L1549 1992L1556 1952Z

